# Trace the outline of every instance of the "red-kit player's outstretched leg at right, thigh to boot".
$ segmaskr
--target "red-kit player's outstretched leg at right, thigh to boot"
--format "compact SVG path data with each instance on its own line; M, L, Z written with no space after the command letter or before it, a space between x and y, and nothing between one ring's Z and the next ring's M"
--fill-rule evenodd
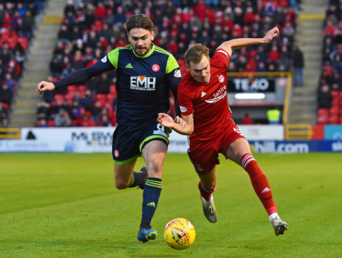
M274 204L271 187L266 178L266 175L262 172L258 166L258 162L251 154L251 147L249 142L244 138L238 138L227 148L226 157L233 160L235 163L240 164L244 170L249 174L251 183L255 193L258 195L262 205L269 214L269 221L272 223L276 235L284 234L287 230L287 223L280 220L277 213L277 207Z

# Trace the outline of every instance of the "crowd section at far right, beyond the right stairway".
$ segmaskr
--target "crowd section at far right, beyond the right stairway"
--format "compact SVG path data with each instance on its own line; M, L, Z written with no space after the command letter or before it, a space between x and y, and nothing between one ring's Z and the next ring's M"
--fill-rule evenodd
M342 123L342 1L330 0L323 23L317 123Z

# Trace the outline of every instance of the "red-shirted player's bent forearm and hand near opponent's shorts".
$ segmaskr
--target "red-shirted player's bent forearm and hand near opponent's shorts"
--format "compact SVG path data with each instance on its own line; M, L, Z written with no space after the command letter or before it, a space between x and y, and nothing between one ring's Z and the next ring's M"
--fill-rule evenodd
M168 114L159 113L156 121L158 121L158 123L161 123L162 126L171 128L181 135L191 135L194 131L194 121L192 118L192 114L188 116L182 116L182 118L179 118L179 121L177 122L176 119L174 121ZM185 126L184 122L186 123Z

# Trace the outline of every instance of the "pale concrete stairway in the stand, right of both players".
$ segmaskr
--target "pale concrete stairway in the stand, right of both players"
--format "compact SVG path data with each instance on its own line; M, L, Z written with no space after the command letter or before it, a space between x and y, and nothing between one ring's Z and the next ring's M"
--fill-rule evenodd
M303 51L304 85L294 85L291 92L288 123L315 124L317 117L317 87L321 76L323 19L327 10L325 0L302 0L298 13L296 44Z

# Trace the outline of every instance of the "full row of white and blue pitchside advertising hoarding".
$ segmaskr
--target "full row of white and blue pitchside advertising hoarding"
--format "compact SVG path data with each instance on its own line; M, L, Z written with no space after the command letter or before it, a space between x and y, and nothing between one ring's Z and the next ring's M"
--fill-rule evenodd
M342 152L342 139L339 138L318 141L285 141L282 125L239 127L255 153ZM111 153L114 130L115 128L112 127L22 128L21 139L0 140L0 153ZM188 137L172 132L169 139L169 153L186 153Z

